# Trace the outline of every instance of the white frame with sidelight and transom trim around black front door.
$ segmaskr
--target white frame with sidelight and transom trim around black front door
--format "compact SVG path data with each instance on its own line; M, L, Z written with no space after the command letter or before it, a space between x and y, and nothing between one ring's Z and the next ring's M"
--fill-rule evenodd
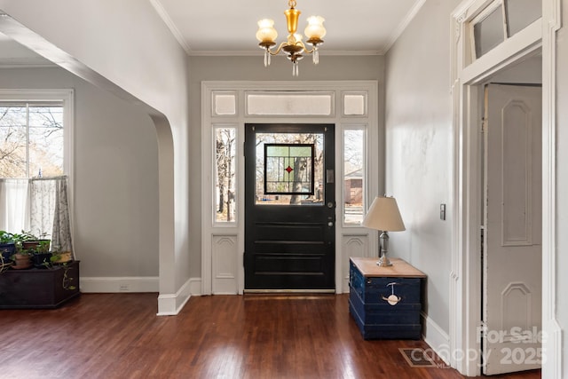
M236 95L236 112L233 115L214 115L214 92ZM247 115L245 94L250 91L306 91L310 93L334 93L334 104L329 115L263 116ZM367 113L361 115L343 114L343 93L367 93ZM244 290L244 125L245 123L334 123L335 124L335 178L343 178L343 130L354 125L366 125L367 186L365 205L384 190L384 99L383 86L379 91L376 80L362 81L321 81L321 82L264 82L264 81L205 81L201 83L201 295L242 294ZM237 221L230 225L214 224L212 193L214 177L213 125L237 128ZM335 293L349 291L349 257L376 257L378 238L376 231L360 225L343 225L343 180L335 180ZM214 253L213 240L219 241L225 249L228 260L222 262ZM352 242L352 243L351 243ZM345 244L346 246L343 246ZM357 248L352 248L356 246ZM230 262L229 262L230 261ZM217 265L225 265L224 272L213 271ZM217 280L228 285L216 288Z

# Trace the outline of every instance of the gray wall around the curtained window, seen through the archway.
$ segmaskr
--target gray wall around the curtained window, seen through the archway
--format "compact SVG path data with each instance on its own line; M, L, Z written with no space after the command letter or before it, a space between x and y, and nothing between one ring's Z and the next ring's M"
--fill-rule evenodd
M0 69L0 88L74 89L74 236L82 277L158 276L154 123L58 67Z

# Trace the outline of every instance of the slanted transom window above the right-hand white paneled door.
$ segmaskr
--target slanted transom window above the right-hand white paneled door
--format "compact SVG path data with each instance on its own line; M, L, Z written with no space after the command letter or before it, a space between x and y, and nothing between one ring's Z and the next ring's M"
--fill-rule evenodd
M542 17L540 0L497 0L469 24L473 59L478 59Z

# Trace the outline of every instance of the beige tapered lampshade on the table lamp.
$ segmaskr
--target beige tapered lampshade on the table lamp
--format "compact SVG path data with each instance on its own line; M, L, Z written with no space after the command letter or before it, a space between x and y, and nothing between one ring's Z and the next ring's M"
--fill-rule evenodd
M371 208L365 215L361 225L381 230L383 232L400 232L406 230L398 211L397 201L394 197L375 197Z

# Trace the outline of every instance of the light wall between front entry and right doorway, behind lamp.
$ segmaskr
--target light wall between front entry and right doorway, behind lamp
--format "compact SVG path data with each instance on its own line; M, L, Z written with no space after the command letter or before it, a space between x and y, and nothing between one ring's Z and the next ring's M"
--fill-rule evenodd
M397 198L406 225L405 232L390 233L390 250L428 275L426 336L444 343L453 216L449 15L455 4L426 2L388 51L385 70L386 193ZM446 221L439 217L441 203Z

